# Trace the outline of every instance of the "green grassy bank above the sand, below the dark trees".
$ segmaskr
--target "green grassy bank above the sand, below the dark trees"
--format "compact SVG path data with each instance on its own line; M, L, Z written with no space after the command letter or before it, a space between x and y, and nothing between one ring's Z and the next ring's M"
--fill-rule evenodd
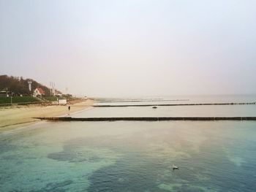
M32 103L32 102L38 102L41 101L37 97L34 96L13 96L12 97L12 103ZM11 103L11 97L5 97L0 96L0 104L10 104Z

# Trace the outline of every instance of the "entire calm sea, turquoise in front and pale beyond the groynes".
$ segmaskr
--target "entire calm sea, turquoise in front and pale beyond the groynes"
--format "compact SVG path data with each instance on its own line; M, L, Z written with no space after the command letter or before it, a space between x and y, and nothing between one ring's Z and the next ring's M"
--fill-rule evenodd
M96 104L255 102L255 95ZM90 107L78 117L256 117L256 105ZM173 165L179 169L173 171ZM40 121L0 133L0 191L256 191L256 121Z

